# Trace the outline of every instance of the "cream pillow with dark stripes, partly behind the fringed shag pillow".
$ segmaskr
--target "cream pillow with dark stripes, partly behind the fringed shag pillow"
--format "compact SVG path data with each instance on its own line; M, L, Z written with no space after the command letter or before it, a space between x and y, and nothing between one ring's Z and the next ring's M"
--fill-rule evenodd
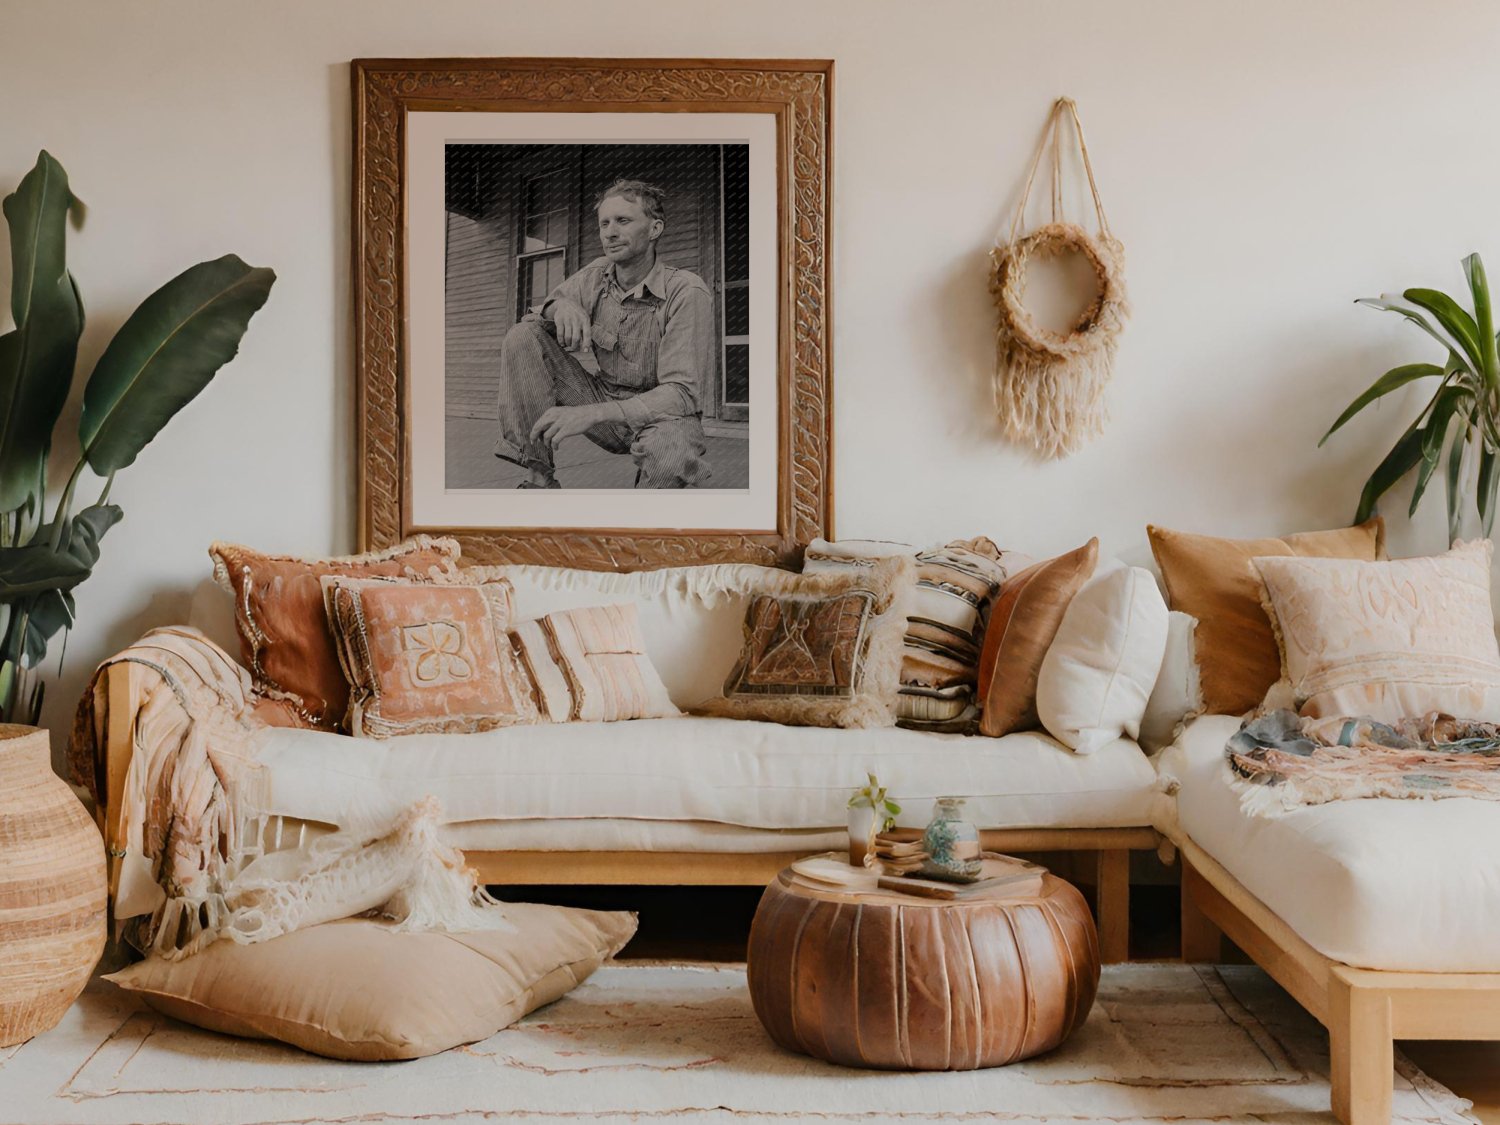
M980 716L974 694L990 604L1006 576L1030 560L1000 550L982 536L927 550L873 540L814 540L804 552L802 573L868 567L894 555L916 560L896 723L924 730L969 730Z

